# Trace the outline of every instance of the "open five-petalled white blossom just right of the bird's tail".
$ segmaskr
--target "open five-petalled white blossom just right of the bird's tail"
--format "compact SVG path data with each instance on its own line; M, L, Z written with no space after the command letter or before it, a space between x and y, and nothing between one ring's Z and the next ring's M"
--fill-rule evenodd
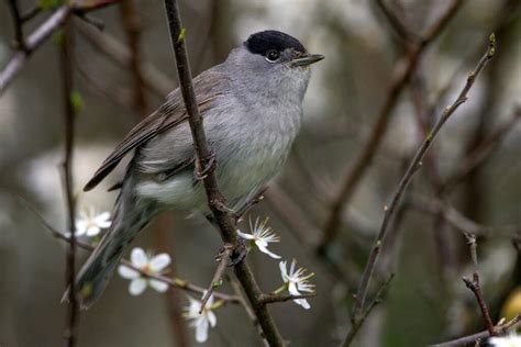
M153 257L152 255L147 255L142 248L134 248L131 253L131 261L135 268L146 273L160 275L170 264L171 259L166 253L162 253ZM122 278L131 280L129 292L132 295L142 294L148 286L160 293L168 289L168 283L153 278L147 278L135 269L125 265L120 265L118 268L118 273L120 273Z

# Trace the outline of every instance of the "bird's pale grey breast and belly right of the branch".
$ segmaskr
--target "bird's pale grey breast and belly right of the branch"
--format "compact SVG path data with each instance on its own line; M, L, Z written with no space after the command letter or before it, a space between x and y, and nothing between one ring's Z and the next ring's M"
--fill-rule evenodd
M300 127L299 104L245 105L225 99L209 116L217 177L232 209L241 206L280 171Z

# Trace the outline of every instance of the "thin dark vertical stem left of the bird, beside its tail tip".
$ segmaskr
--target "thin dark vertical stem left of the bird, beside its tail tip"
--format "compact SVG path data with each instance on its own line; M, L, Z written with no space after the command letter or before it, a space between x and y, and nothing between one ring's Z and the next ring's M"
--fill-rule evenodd
M73 191L73 150L75 141L75 119L77 108L73 104L74 91L74 46L73 26L68 18L65 19L63 41L60 42L60 65L63 80L64 115L65 115L65 153L63 161L64 190L67 211L67 230L70 231L69 246L66 255L66 288L68 288L68 312L67 323L64 329L66 346L73 347L78 337L78 302L75 290L75 257L76 257L76 224L75 224L75 200Z

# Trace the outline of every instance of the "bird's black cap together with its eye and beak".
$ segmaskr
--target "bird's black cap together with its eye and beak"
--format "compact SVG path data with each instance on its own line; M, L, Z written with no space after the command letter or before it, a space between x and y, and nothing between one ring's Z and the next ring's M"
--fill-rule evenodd
M324 58L321 54L310 54L293 36L275 30L255 33L244 42L253 54L265 57L268 63L288 63L292 67L308 66ZM290 55L284 59L284 55Z

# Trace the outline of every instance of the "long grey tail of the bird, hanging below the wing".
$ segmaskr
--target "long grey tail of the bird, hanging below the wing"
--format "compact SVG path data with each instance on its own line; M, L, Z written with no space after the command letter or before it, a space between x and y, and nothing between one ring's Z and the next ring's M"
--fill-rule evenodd
M151 203L137 201L123 187L108 233L76 277L76 298L81 309L89 309L101 295L129 244L153 219L153 211ZM67 298L68 291L64 294Z

